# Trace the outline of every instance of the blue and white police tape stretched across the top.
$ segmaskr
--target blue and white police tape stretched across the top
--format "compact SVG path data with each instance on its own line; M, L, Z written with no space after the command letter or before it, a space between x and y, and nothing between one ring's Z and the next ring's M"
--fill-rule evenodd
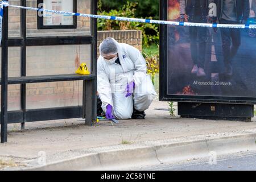
M3 6L16 7L16 8L20 8L20 9L26 9L26 10L42 11L42 12L54 13L54 14L65 14L65 15L73 15L73 16L83 16L83 17L88 17L88 18L110 19L110 20L127 21L127 22L168 24L168 25L172 25L172 26L189 26L189 27L192 26L192 27L250 28L250 29L253 28L253 29L256 29L256 24L217 24L217 23L173 22L173 21L166 21L166 20L126 18L126 17L119 17L119 16L105 16L105 15L71 13L71 12L67 12L67 11L47 10L47 9L40 9L40 8L36 8L36 7L10 5L8 1L1 1L0 4L2 4Z

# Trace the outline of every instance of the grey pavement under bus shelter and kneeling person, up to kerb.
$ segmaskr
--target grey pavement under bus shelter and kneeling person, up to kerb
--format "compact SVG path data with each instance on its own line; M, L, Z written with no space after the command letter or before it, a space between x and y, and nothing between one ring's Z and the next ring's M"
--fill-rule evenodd
M205 134L240 133L255 129L255 118L253 122L236 122L171 117L167 102L154 101L146 111L144 120L120 120L119 124L101 121L90 127L84 125L81 118L63 119L26 123L26 129L22 131L18 124L9 125L8 142L0 144L0 159L20 162L38 158L40 151L55 155L81 148L135 144Z

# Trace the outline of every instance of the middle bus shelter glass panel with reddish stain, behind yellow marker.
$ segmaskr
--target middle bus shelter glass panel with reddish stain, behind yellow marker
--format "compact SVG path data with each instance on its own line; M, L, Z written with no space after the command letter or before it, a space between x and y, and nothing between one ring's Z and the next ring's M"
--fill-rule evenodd
M90 45L29 46L27 76L72 74L81 63L86 63L90 71L90 54Z

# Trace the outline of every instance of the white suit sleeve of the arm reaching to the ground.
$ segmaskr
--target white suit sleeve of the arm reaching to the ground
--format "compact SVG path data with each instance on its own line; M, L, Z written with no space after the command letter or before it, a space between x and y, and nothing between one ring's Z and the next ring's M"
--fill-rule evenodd
M97 91L102 101L102 107L106 109L108 104L113 106L112 91L109 78L106 75L101 60L97 61Z

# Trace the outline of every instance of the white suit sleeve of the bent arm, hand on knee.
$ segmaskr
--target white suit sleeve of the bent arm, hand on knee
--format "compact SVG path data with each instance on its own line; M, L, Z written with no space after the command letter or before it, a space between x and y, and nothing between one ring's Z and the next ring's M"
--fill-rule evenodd
M146 60L137 48L127 45L126 49L128 56L135 65L133 81L135 82L135 85L139 86L147 73Z

